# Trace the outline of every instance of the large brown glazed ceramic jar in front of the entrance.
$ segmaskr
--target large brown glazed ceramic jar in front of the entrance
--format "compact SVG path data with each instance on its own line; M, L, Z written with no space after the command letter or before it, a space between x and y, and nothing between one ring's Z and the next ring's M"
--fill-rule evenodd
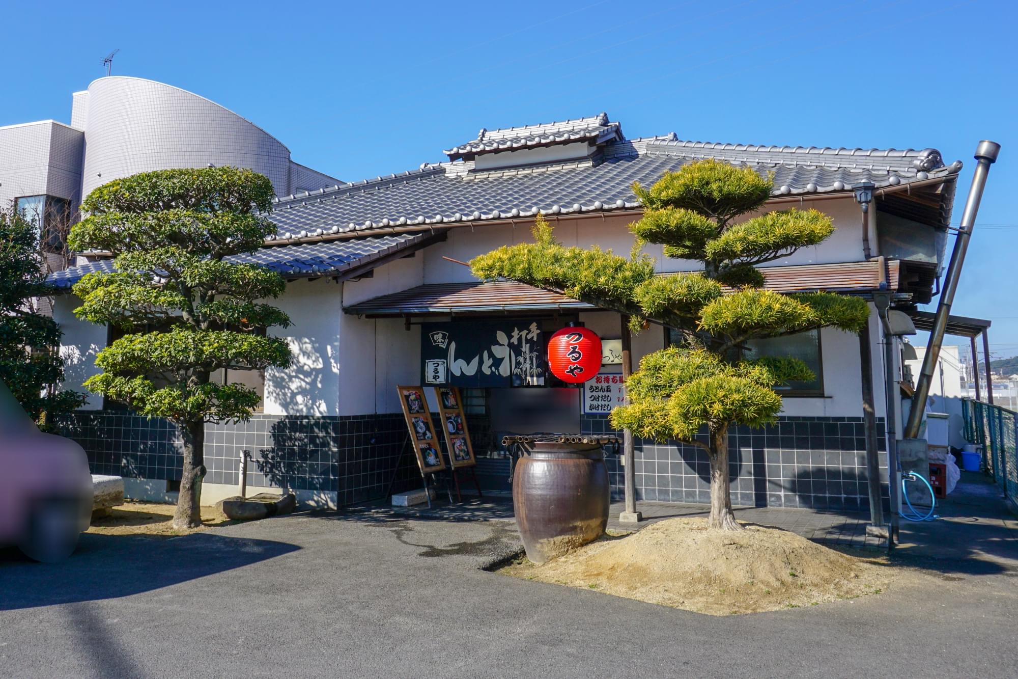
M601 537L609 492L599 443L535 441L516 464L512 487L527 558L543 564Z

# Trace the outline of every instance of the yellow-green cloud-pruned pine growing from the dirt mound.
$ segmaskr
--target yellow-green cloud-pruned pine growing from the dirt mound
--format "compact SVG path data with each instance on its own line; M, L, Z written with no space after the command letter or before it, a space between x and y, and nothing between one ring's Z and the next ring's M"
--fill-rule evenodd
M796 359L746 358L746 343L834 326L858 332L869 311L857 298L830 293L781 295L764 290L756 265L817 245L834 232L816 210L790 209L736 220L764 207L773 188L749 167L716 160L689 163L648 190L638 184L643 217L629 258L600 248L566 248L538 217L535 243L474 258L483 279L510 278L612 309L639 331L648 320L679 330L681 346L645 356L626 382L628 405L613 426L704 450L711 460L711 528L738 530L729 486L728 429L759 427L781 412L775 386L812 379ZM658 275L645 243L701 270Z

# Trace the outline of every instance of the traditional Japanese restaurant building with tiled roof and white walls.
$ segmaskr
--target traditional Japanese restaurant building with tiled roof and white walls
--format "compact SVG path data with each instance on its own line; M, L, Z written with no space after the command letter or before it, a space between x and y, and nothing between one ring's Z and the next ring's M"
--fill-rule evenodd
M249 451L248 487L289 487L319 506L354 504L391 487L419 484L403 455L407 428L397 384L461 388L477 472L486 491L509 489L506 432L611 431L607 414L621 398L617 313L555 292L509 281L478 281L463 265L502 245L530 239L539 213L565 245L628 253L627 225L640 214L634 180L649 185L665 171L700 158L749 165L774 177L767 210L816 208L834 219L834 236L762 268L766 286L782 292L831 291L887 301L911 312L929 302L945 265L944 250L961 163L934 149L878 150L704 144L675 134L627 139L606 114L497 130L445 151L419 168L278 199L269 218L278 232L245 261L282 273L287 290L276 304L293 325L270 328L289 340L294 364L265 374L233 373L263 394L249 422L209 424L206 499L233 494L238 459ZM662 272L691 263L647 247ZM683 266L686 264L687 266ZM69 290L83 274L110 270L101 256L51 276ZM96 371L105 328L77 321L77 300L57 298L64 329L67 387ZM885 426L901 422L904 387L900 338L885 334L873 304L867 330L869 364L860 337L834 328L761 342L760 354L792 355L816 379L783 393L780 421L764 429L736 427L732 500L738 505L864 509L867 443L863 375L874 389L875 450L886 481ZM604 341L599 378L567 386L548 373L545 343L580 322ZM671 342L652 325L632 338L634 362ZM892 343L891 363L875 348ZM885 384L895 385L885 396ZM434 407L432 408L434 412ZM147 420L93 397L67 425L89 451L95 473L128 478L129 494L172 493L179 442L166 422ZM705 453L674 441L637 441L637 499L708 502ZM613 494L622 468L609 459ZM887 486L885 483L885 492Z

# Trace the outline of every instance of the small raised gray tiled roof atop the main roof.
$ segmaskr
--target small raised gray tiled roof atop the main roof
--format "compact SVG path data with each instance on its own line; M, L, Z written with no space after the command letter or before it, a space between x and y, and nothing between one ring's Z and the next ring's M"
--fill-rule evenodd
M538 125L482 129L477 134L477 139L446 149L444 153L450 160L456 160L496 151L516 151L584 140L603 143L609 139L621 140L622 129L618 122L609 121L607 113L601 113L587 118L573 118Z

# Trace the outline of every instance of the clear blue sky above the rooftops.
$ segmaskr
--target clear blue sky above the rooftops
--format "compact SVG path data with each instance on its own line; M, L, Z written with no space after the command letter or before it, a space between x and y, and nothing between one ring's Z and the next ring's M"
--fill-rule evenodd
M345 180L439 161L480 127L608 111L629 137L936 147L1003 145L957 314L1018 354L1013 2L577 0L506 3L8 3L0 125L69 121L103 74L195 92L294 160ZM917 344L924 340L917 338ZM949 342L951 340L949 338Z

